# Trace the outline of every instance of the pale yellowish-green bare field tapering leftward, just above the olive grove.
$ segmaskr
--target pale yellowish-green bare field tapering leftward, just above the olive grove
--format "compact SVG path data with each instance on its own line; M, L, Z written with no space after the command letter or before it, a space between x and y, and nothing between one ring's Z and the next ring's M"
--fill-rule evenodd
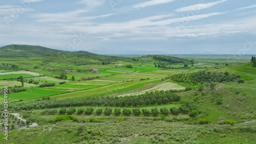
M126 93L126 94L121 94L121 95L117 95L116 97L125 97L126 95L127 96L131 96L131 95L139 95L139 94L144 94L146 92L151 92L151 91L155 91L155 90L171 90L171 89L177 89L177 90L180 90L180 89L185 89L185 87L183 86L180 86L176 83L171 83L171 82L167 82L167 83L162 83L162 84L159 84L157 86L154 86L150 89L146 89L146 90L142 90L142 91L138 91L138 92L132 92L132 93Z

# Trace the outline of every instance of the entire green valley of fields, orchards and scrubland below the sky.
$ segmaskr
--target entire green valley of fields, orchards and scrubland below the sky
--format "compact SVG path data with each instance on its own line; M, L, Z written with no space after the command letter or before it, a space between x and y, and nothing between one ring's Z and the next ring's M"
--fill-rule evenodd
M33 47L34 53L31 47L0 49L13 56L0 57L9 113L27 120L23 124L11 117L10 143L255 141L254 123L236 125L256 119L251 56L130 58L40 46ZM25 61L24 54L30 56ZM4 111L3 90L0 95ZM28 129L32 123L39 125Z

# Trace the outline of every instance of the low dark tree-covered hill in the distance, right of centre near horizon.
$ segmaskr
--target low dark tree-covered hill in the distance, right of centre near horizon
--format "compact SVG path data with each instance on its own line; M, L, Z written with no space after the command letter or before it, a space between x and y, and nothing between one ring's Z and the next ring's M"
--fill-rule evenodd
M153 60L165 61L169 63L183 63L188 62L188 60L183 58L171 57L171 56L164 56L164 55L147 55L141 58L150 58Z

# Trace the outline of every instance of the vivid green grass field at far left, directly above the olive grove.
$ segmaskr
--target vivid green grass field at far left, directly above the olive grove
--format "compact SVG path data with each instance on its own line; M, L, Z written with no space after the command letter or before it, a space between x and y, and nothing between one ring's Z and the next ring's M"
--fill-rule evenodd
M46 88L32 88L27 91L10 93L8 95L9 99L15 100L29 100L41 97L47 97L49 95L59 94L68 92L67 90L56 90L56 89L46 89Z

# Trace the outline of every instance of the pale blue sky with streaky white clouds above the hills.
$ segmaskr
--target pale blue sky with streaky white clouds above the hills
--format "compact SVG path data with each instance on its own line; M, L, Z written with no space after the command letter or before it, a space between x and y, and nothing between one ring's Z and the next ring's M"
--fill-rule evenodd
M251 0L0 1L0 46L96 54L256 54Z

